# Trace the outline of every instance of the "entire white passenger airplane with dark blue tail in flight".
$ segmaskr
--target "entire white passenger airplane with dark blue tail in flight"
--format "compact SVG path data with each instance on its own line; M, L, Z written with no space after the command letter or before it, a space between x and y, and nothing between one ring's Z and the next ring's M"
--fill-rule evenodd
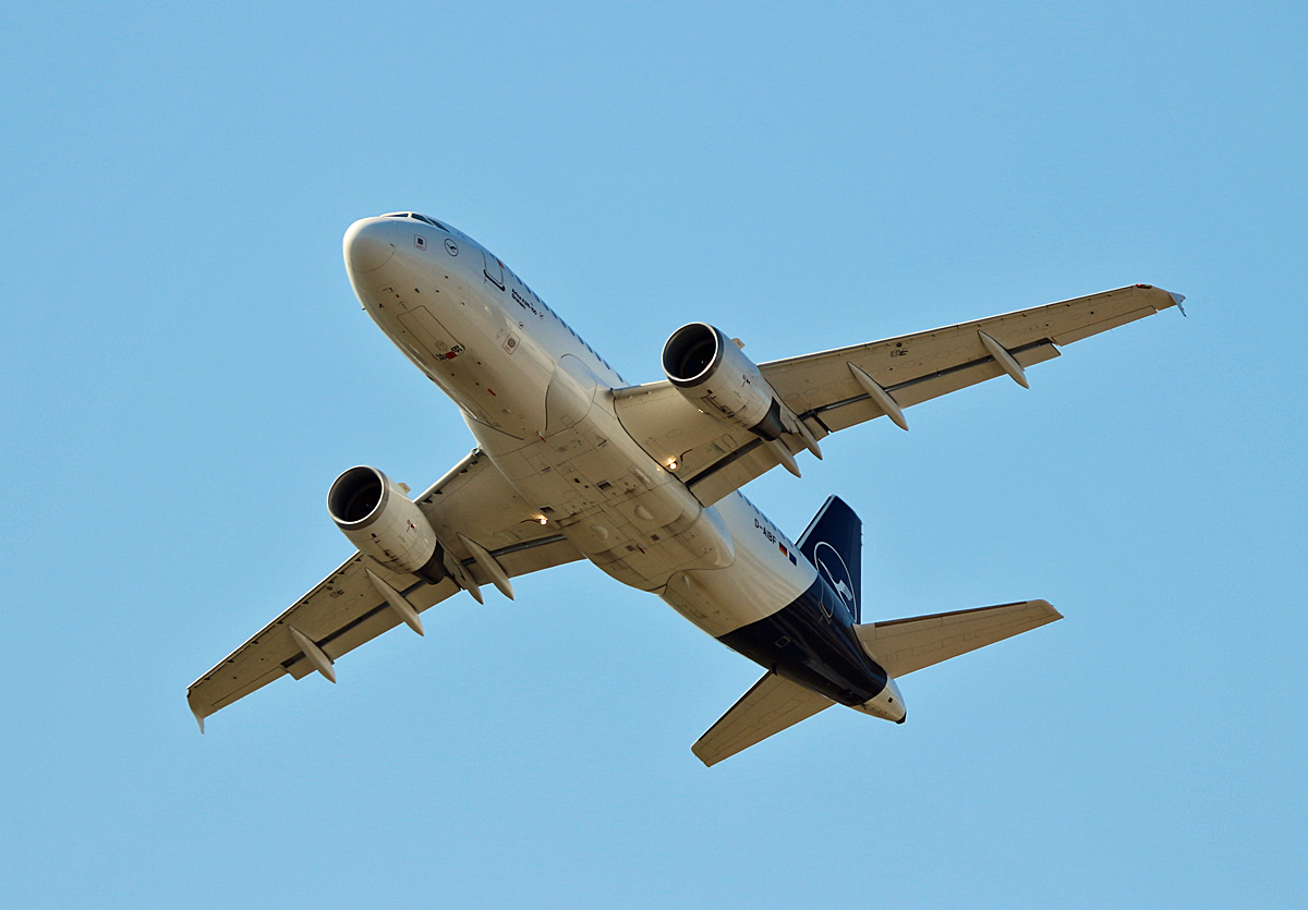
M740 488L832 433L1007 377L1177 306L1147 284L900 337L755 363L692 322L664 379L628 384L493 252L416 212L356 221L364 310L458 405L477 447L416 497L357 465L327 493L356 552L187 690L204 720L272 680L318 672L459 591L589 560L658 595L764 668L692 747L714 765L833 705L904 723L897 680L1062 618L1046 600L863 622L862 524L837 497L791 541ZM1184 312L1184 310L1182 310Z

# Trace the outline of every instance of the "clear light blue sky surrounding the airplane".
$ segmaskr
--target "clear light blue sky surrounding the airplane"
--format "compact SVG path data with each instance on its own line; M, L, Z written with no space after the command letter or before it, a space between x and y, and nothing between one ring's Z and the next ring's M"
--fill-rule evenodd
M1303 4L26 4L0 14L9 906L1303 900ZM869 618L1048 598L713 769L757 669L589 565L211 718L472 446L340 239L416 209L632 382L1152 282L1189 297L748 488L865 520ZM807 456L806 456L807 458ZM866 615L865 613L865 615Z

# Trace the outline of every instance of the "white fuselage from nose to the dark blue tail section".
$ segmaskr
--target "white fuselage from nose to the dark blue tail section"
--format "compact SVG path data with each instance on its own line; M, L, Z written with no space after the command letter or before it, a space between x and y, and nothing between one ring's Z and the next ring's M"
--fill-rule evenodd
M743 496L705 507L641 448L613 409L627 383L476 241L412 217L364 218L345 234L345 261L364 309L458 404L492 463L606 573L714 637L814 583Z

